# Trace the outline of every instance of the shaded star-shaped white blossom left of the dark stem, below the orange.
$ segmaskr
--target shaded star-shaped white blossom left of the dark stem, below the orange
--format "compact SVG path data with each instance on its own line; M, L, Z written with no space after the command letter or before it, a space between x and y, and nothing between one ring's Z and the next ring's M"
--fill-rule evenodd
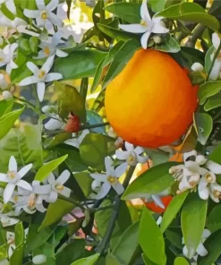
M97 195L98 200L104 198L110 191L111 187L113 187L118 194L122 194L124 191L123 184L118 181L118 178L124 173L124 167L119 166L114 168L112 163L112 159L106 157L106 173L90 174L96 181L103 183Z

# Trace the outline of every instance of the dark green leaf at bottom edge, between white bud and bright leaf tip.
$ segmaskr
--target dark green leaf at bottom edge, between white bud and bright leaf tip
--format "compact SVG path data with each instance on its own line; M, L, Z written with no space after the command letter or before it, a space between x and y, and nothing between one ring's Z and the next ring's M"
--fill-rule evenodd
M55 255L56 265L70 265L72 261L79 261L85 257L85 240L75 239L73 243L64 246L63 250Z

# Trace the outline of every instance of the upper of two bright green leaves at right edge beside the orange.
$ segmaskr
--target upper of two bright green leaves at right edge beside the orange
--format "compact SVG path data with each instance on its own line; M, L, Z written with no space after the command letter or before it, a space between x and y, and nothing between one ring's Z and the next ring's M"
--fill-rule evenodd
M203 105L207 98L216 95L221 90L221 81L207 81L200 85L198 92L198 98L200 99L200 105Z

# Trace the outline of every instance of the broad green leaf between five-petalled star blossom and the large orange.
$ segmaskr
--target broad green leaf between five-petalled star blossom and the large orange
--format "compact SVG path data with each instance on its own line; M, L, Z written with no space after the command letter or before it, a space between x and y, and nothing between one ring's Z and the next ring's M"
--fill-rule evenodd
M55 60L55 73L62 73L64 80L91 77L105 56L106 53L92 49L73 51L70 56Z

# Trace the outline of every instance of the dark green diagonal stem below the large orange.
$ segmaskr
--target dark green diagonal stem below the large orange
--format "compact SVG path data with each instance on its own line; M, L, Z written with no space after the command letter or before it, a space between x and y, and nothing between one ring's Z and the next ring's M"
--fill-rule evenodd
M123 181L123 187L124 188L126 188L128 186L128 184L129 184L129 182L130 182L130 180L132 178L132 174L133 174L134 169L135 169L135 167L130 167L129 168L129 170L127 172L127 175L126 175L126 177L125 177L125 179ZM112 216L110 218L108 227L106 229L106 234L103 237L102 242L101 242L101 244L98 247L98 251L97 252L100 253L100 255L102 255L102 253L105 252L106 245L110 241L111 235L112 235L112 233L114 231L114 228L115 228L115 220L118 217L120 206L121 206L121 196L117 194L115 196L115 209L113 209Z

